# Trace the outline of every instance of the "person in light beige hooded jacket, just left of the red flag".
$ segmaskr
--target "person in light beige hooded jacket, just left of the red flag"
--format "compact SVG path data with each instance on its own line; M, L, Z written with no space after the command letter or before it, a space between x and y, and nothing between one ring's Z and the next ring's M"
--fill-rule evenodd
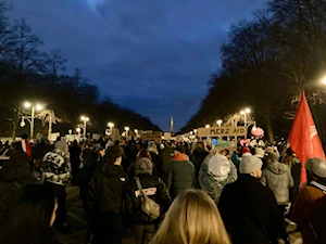
M294 185L294 181L288 166L279 163L278 159L278 153L269 153L267 157L267 165L263 170L261 182L264 187L267 187L273 191L278 205L279 214L284 219L285 210L290 200L290 188ZM288 239L286 228L284 228L283 239Z

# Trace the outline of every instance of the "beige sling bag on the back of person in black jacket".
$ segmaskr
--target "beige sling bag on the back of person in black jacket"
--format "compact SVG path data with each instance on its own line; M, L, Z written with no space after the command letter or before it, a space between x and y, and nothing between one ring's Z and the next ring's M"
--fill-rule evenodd
M145 214L147 214L152 220L155 220L156 218L160 217L160 205L145 194L138 177L136 178L136 184L140 191L139 197L141 202L141 210Z

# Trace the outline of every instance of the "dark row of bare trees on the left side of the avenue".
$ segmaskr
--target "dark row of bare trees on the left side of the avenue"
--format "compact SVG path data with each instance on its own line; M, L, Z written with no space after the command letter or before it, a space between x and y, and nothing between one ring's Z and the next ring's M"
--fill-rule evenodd
M101 98L99 88L83 77L76 68L65 73L66 60L61 50L42 51L43 41L33 33L25 18L11 24L10 8L0 1L0 134L15 136L28 131L20 128L23 103L42 102L62 119L53 131L66 133L75 129L80 115L90 117L88 131L103 132L108 121L123 129L160 130L151 120L122 107L109 97ZM36 131L47 133L47 127L36 124Z

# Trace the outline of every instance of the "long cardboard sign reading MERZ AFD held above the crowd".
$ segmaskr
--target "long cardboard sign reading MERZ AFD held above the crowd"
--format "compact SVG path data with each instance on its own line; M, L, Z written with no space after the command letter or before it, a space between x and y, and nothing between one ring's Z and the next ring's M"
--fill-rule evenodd
M244 126L238 127L210 127L198 128L198 137L244 137L247 128Z

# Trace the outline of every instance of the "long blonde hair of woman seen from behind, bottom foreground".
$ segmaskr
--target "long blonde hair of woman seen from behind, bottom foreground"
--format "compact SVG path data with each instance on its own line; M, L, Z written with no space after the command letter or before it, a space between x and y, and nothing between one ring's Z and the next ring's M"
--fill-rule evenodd
M151 244L230 244L216 204L201 190L180 193Z

